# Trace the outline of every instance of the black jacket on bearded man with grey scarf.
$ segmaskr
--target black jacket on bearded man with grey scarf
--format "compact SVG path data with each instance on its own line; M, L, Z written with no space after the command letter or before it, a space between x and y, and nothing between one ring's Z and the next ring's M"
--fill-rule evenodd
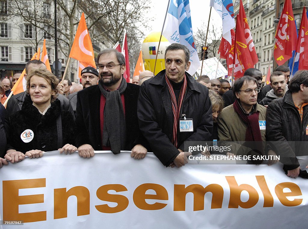
M147 148L147 143L140 134L137 120L139 89L140 86L128 83L123 93L125 103L126 143L124 147L121 147L121 150L132 150L136 144L141 144ZM94 150L102 150L99 114L101 94L99 85L87 87L77 93L77 147L83 144L90 144Z

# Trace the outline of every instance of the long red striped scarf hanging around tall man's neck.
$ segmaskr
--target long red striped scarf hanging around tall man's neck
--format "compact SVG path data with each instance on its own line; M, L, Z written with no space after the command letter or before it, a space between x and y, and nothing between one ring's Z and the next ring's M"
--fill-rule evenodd
M170 98L171 98L171 103L172 103L172 112L173 112L173 132L172 132L172 144L177 148L177 124L180 116L180 110L181 106L184 100L184 95L187 87L187 80L186 76L184 76L184 83L181 87L180 91L180 97L179 97L179 102L176 103L176 97L173 91L172 83L168 79L167 75L165 74Z

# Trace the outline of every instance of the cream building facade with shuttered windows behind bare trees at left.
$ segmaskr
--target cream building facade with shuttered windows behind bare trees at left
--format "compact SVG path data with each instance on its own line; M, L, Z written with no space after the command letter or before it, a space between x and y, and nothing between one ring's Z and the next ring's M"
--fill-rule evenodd
M75 35L81 15L80 7L74 5L76 1L63 0L63 2L65 9L72 12L74 24L70 27L67 14L64 13L62 7L57 6L58 60L62 65L59 78L63 75L67 64L70 50L69 36L71 32ZM37 49L41 48L42 51L44 39L46 39L51 69L54 71L52 66L55 61L54 7L52 0L0 1L1 77L10 78L14 73L22 72L25 64L37 52ZM91 17L87 18L87 23L91 20ZM110 36L100 38L92 41L95 53L106 47L112 47L113 41ZM71 60L66 78L77 82L79 80L77 70L77 61Z

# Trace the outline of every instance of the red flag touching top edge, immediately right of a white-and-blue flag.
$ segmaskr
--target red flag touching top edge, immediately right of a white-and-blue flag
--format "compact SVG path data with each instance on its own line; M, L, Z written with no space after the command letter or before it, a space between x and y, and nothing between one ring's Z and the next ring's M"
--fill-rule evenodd
M253 65L255 65L255 64L257 64L257 62L259 60L258 60L258 56L257 56L257 53L256 53L256 49L255 49L254 44L253 44L253 40L252 40L252 36L251 36L251 33L250 33L250 29L249 29L249 25L248 25L248 22L247 22L247 17L246 17L246 14L245 14L245 10L244 10L242 0L241 0L240 3L241 3L240 4L240 10L239 10L239 13L238 13L239 17L237 19L240 19L244 23L246 45L248 46Z

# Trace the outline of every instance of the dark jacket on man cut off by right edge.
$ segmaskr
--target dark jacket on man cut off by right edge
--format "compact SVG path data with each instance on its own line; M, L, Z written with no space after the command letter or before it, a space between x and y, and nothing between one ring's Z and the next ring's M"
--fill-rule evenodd
M287 170L297 168L296 156L308 155L308 105L303 109L302 122L292 94L273 100L266 110L266 136Z

